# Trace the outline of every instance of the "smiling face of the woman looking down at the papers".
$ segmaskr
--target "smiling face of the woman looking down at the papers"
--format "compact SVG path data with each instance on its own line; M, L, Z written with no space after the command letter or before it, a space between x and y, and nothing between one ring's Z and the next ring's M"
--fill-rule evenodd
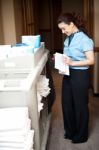
M70 24L66 24L61 22L58 24L59 29L61 29L62 33L69 36L73 33L74 24L71 22Z

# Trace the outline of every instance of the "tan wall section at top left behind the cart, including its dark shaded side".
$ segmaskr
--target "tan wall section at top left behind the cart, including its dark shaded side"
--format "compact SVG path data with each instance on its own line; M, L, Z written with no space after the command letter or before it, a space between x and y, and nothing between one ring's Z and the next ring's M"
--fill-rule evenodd
M0 2L0 30L3 35L1 40L3 40L3 44L20 42L22 35L21 0L1 0Z

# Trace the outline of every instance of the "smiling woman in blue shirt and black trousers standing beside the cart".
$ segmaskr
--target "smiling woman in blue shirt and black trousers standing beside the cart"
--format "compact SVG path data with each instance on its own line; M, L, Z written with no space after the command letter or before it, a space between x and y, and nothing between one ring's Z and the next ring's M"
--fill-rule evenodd
M89 66L94 64L93 41L86 34L79 15L64 13L58 18L58 27L66 35L63 62L69 65L70 75L62 81L62 110L65 139L73 143L88 139Z

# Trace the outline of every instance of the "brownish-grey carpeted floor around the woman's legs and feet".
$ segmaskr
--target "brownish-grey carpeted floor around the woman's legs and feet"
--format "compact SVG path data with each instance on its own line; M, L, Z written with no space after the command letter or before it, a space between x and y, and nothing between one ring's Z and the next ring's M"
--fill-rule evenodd
M88 141L82 144L73 144L70 140L63 138L64 130L61 110L62 75L54 72L53 80L56 90L56 100L52 108L52 121L47 150L99 150L99 97L94 96L92 90L90 90L90 133Z

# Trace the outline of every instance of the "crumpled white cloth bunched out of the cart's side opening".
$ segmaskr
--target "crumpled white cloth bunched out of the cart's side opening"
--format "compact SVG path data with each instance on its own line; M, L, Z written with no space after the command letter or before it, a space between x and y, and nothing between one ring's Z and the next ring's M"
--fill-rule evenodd
M49 79L45 75L40 75L37 82L37 98L38 98L38 112L43 109L42 97L46 97L50 93Z

